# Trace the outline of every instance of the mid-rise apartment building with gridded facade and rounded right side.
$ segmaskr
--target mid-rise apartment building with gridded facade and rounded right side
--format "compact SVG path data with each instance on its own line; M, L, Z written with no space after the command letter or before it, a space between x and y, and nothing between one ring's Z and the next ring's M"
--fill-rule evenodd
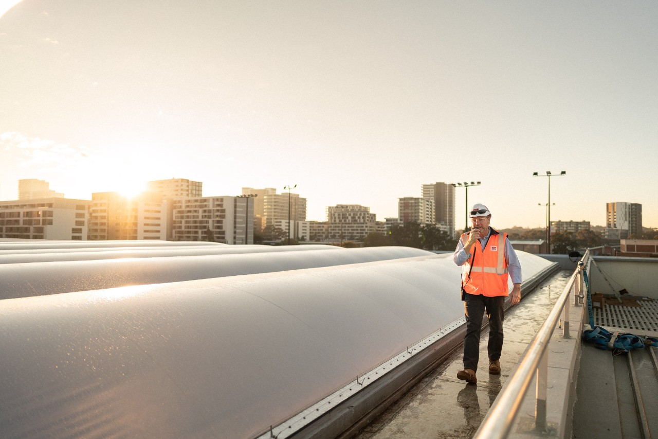
M377 231L376 215L360 204L336 204L327 208L328 241L361 241Z

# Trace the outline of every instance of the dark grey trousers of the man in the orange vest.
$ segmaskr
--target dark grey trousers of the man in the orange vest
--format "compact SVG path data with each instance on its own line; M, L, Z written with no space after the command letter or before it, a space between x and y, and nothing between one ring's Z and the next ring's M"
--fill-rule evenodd
M466 336L464 337L464 368L478 370L480 359L480 332L482 314L486 311L489 319L489 343L487 351L491 361L500 359L503 350L503 306L505 297L486 297L466 294L464 314L466 316Z

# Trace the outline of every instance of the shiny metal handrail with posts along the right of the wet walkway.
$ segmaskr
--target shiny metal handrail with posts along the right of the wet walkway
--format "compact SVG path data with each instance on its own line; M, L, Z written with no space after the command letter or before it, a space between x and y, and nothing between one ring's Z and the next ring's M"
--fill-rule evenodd
M581 262L586 263L590 258L590 250L586 250ZM578 264L578 267L581 265ZM560 314L569 305L569 295L574 288L574 283L580 268L576 268L569 278L564 291L557 299L557 303L548 314L544 324L534 336L526 355L521 359L519 367L511 374L505 388L498 394L492 407L489 409L487 415L482 420L480 428L473 436L477 439L490 439L490 438L506 438L509 434L514 420L519 413L519 408L522 401L528 392L528 386L532 381L533 374L537 375L537 411L536 411L536 425L540 428L545 428L546 413L545 413L545 395L546 395L546 375L548 368L547 347L553 336L555 324L560 318ZM576 294L577 294L576 290ZM568 309L568 308L567 308ZM566 314L566 312L565 312ZM569 337L569 326L565 328L565 336ZM543 387L543 388L542 388ZM542 398L543 397L543 398ZM543 412L543 413L542 413Z

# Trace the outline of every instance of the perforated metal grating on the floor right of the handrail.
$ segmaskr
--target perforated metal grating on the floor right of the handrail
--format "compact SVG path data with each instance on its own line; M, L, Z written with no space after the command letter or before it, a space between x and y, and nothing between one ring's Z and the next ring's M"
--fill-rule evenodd
M609 303L611 302L611 303ZM594 322L605 328L658 332L658 301L638 299L640 307L613 305L606 300L603 308L594 308Z

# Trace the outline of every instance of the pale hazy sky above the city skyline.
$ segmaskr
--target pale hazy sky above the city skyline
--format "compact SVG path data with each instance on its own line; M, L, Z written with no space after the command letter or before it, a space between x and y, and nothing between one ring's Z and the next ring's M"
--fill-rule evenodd
M1 0L0 0L1 1ZM297 185L309 220L377 220L421 185L482 181L493 227L658 227L658 2L0 3L0 200L156 179L205 196ZM10 9L11 8L11 9ZM455 221L465 223L465 190Z

